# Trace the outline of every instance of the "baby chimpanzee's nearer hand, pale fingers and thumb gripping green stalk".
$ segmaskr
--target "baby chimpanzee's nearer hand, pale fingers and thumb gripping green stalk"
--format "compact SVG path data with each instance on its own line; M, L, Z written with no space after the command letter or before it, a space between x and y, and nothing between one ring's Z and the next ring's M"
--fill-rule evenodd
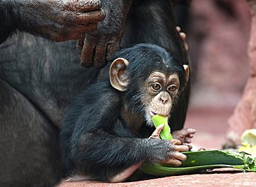
M156 130L149 137L151 139L161 139L160 132L163 130L163 125L158 126ZM179 139L170 139L163 140L169 141L169 146L167 148L167 154L165 155L165 159L160 162L163 164L173 164L174 166L180 166L183 161L187 159L187 156L181 152L190 150L188 145L183 145Z

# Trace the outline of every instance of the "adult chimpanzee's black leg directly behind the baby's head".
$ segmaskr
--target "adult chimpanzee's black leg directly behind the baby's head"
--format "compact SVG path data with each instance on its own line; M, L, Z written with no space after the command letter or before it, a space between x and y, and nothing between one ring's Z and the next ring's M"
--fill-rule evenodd
M134 1L127 15L127 26L121 45L132 43L154 43L169 48L179 55L183 64L188 64L188 54L181 37L176 32L176 23L170 1ZM174 105L170 124L172 131L183 128L188 109L190 80L179 101Z

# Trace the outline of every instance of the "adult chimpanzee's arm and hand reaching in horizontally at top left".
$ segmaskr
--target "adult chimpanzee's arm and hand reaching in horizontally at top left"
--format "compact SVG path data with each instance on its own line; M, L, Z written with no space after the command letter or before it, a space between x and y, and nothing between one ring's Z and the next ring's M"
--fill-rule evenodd
M79 39L104 19L96 0L0 1L0 43L21 30L54 41Z

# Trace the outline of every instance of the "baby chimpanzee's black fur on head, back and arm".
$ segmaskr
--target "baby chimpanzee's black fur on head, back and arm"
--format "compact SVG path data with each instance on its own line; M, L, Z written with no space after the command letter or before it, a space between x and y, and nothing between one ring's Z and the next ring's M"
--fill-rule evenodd
M145 96L140 88L155 70L177 72L183 90L183 66L179 66L176 55L153 44L120 50L115 57L129 61L127 91L119 92L109 80L96 83L82 92L64 117L61 148L70 175L79 173L107 181L140 161L161 160L167 154L167 141L143 138L127 128L121 109L127 100L132 108L129 114L138 112L144 116L140 99Z

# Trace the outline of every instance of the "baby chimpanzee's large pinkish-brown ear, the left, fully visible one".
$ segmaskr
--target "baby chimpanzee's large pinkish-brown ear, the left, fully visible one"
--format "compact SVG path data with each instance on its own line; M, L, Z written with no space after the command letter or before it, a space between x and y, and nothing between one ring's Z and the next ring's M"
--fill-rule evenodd
M128 77L125 75L125 70L129 61L124 58L114 60L109 68L110 83L113 88L121 92L127 90Z

